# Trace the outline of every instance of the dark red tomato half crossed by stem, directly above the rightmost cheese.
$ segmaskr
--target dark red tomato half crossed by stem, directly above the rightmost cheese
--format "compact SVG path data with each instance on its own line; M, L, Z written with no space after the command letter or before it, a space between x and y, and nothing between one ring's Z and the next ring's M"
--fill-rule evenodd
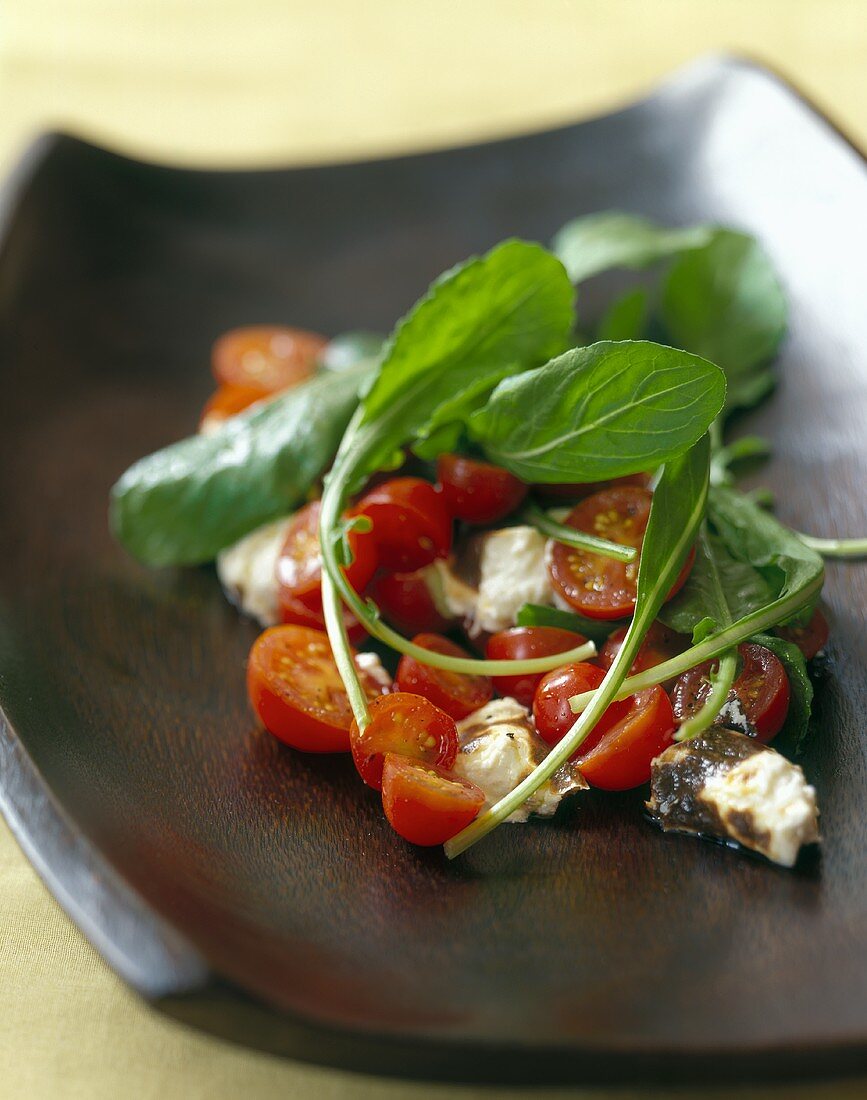
M789 678L775 653L748 641L737 647L740 672L728 693L727 704L735 704L760 741L769 741L782 729L789 712ZM711 690L709 675L715 661L705 661L678 676L671 702L678 722L698 714ZM721 723L725 724L725 723Z

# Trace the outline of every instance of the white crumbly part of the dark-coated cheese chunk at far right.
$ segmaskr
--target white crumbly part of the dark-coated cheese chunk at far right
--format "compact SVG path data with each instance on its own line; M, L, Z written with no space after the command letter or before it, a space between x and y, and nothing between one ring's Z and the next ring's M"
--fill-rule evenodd
M714 807L733 839L783 867L794 865L802 845L819 839L815 789L773 750L709 776L700 799ZM748 831L738 825L743 818Z

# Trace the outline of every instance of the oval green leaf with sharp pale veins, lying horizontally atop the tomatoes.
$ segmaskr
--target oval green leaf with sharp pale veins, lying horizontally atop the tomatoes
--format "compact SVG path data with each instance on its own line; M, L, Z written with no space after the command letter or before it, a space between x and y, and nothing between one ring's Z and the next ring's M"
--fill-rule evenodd
M713 363L645 340L602 342L501 382L470 433L524 481L602 481L687 450L724 399Z

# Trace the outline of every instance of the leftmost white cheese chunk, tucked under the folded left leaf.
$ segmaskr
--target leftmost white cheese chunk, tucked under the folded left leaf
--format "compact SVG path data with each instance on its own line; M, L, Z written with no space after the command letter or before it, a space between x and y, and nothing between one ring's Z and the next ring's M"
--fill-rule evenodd
M265 524L217 556L217 575L227 596L262 626L279 622L276 566L290 521L286 516Z

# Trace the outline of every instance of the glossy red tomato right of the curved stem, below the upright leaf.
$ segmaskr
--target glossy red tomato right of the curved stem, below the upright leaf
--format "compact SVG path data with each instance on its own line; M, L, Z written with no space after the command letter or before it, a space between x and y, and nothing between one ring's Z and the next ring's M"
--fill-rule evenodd
M411 572L451 549L451 516L430 482L393 477L371 490L355 508L373 522L384 569Z

